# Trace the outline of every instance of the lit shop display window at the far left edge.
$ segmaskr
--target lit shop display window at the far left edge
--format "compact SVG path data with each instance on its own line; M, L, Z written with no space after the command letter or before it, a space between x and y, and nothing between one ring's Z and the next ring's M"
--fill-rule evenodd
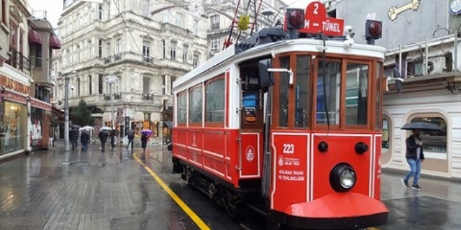
M26 97L5 90L0 95L0 156L21 153L26 145Z

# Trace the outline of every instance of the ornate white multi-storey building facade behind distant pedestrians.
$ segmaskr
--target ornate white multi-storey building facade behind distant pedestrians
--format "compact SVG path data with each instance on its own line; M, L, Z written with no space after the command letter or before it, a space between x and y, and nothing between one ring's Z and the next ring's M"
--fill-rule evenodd
M168 135L172 82L205 61L206 20L185 8L172 13L162 1L65 1L59 20L62 49L54 57L58 86L55 101L64 107L64 76L71 82L69 106L82 98L95 117L95 132L111 126L112 84L114 128L152 130L152 142ZM72 111L72 109L71 109ZM163 140L164 141L164 140Z

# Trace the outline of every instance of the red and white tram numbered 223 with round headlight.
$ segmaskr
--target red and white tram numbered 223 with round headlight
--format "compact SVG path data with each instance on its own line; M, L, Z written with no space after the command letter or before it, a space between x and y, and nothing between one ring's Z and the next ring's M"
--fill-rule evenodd
M378 226L385 49L303 34L309 6L173 83L173 172L268 229Z

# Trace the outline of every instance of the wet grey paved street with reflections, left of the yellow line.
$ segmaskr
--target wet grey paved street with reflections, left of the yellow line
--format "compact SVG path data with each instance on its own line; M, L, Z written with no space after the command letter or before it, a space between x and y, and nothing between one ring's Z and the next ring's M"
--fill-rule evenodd
M157 173L168 174L168 166L148 162ZM163 180L185 190L168 178L178 175ZM124 148L55 150L5 162L0 197L0 229L198 229Z

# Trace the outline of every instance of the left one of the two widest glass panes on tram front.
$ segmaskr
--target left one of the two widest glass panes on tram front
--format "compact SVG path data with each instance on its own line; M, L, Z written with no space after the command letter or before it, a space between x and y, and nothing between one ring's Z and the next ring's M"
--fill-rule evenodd
M339 105L341 101L341 63L325 62L325 93L323 95L323 62L317 67L316 123L327 124L327 116L331 125L339 125ZM325 102L327 108L325 108Z

